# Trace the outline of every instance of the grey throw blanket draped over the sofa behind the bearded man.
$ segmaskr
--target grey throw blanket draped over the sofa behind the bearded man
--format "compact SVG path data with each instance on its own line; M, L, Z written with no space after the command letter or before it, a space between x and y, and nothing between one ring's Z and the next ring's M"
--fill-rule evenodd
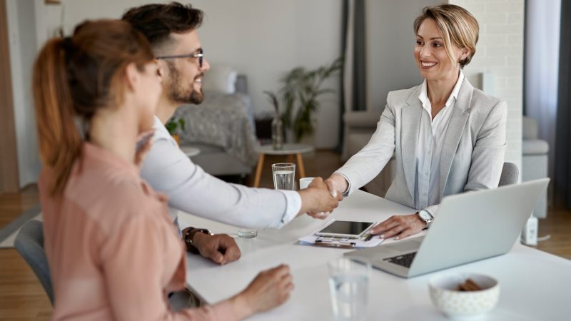
M181 106L174 116L186 121L185 131L177 129L181 143L220 146L243 163L256 164L259 143L249 96L208 91L200 105Z

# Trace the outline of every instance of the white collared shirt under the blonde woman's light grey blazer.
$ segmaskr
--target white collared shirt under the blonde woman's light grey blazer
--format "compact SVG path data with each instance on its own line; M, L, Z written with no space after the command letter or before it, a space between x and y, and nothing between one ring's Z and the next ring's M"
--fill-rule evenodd
M426 80L418 98L423 103L420 117L418 143L416 145L415 208L424 208L431 215L440 203L440 156L444 146L446 129L454 108L464 74L460 71L458 81L445 106L432 118L432 105L428 98Z

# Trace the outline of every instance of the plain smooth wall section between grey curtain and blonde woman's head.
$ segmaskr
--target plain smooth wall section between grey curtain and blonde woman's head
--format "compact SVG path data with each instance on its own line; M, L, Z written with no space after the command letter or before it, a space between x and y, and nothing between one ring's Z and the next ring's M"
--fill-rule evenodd
M389 91L423 82L413 50L413 21L437 0L368 0L365 2L367 41L367 109L383 109Z

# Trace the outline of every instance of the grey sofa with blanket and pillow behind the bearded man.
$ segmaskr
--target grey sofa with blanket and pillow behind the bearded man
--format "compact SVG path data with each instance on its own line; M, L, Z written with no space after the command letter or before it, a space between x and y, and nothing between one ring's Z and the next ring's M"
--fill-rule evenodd
M212 69L205 76L203 103L181 106L175 113L187 124L180 133L181 148L198 148L200 152L191 159L206 173L243 178L251 173L258 156L247 78L223 66Z

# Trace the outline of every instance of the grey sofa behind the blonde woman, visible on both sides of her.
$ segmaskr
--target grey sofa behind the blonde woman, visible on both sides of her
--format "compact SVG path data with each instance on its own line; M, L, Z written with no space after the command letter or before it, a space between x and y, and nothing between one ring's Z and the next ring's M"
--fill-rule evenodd
M345 141L343 142L342 161L360 151L373 135L382 111L348 111L343 115L345 123ZM537 122L533 118L523 117L522 128L522 168L521 180L535 180L547 177L546 141L537 138ZM364 186L365 190L375 195L384 196L395 178L394 156L380 174ZM533 215L537 218L547 217L547 191L543 193L535 206Z

